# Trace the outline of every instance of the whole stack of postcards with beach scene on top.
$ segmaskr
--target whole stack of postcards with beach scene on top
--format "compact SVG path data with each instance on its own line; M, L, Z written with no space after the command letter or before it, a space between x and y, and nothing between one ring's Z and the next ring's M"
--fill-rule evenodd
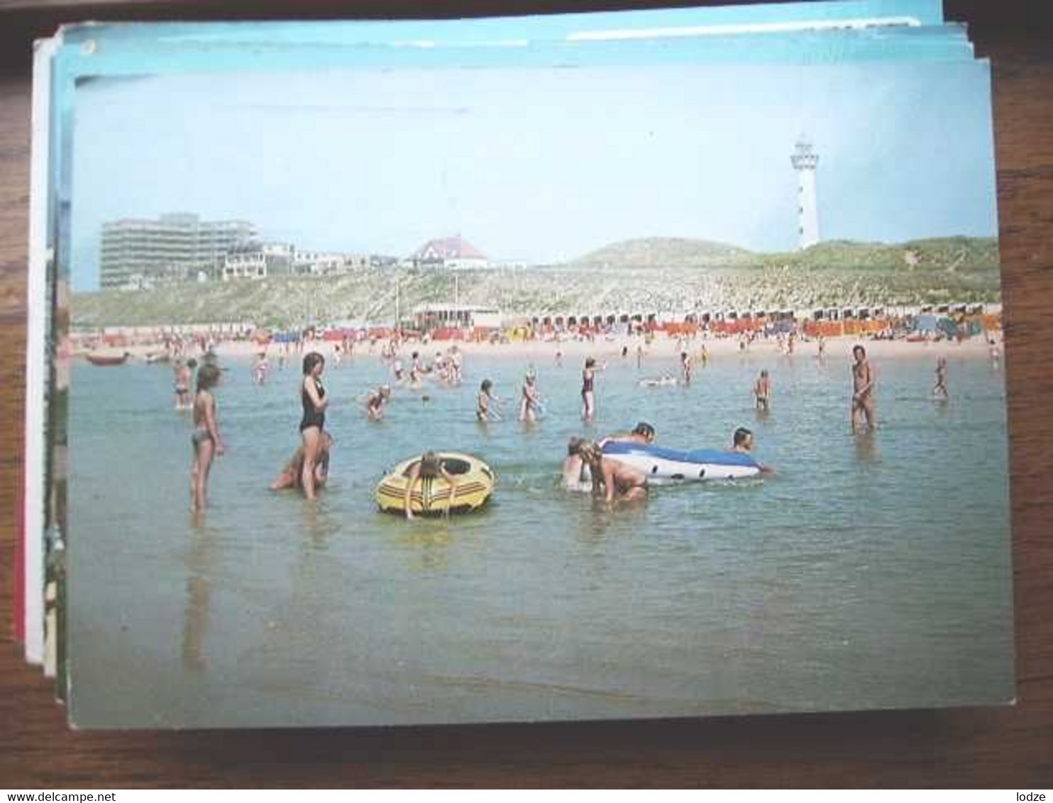
M72 726L1009 704L938 0L37 44L17 628Z

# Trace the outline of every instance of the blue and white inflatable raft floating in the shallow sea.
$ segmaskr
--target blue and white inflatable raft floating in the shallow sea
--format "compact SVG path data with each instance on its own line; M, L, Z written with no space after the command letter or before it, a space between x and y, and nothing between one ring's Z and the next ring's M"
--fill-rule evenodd
M760 475L760 463L749 455L719 449L681 451L663 446L612 441L603 454L636 468L658 482L738 480Z

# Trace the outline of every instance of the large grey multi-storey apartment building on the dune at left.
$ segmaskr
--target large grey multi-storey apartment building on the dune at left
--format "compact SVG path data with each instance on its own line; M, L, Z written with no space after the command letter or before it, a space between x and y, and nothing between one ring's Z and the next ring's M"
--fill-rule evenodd
M217 277L227 254L256 236L244 220L201 220L162 215L157 220L122 219L102 226L100 284L103 289Z

